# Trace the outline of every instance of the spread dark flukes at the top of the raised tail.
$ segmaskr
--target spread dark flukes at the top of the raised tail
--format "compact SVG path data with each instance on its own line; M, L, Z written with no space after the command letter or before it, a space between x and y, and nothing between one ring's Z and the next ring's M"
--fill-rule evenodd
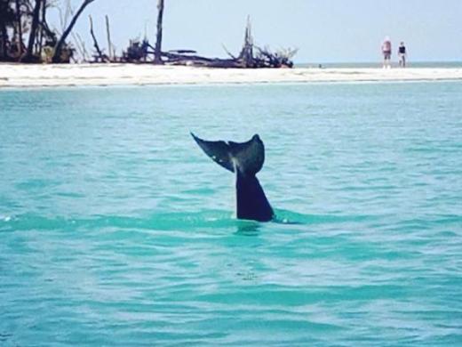
M265 162L265 146L259 135L255 134L250 141L205 141L191 133L197 144L205 154L235 173L238 171L245 176L254 176L263 167Z

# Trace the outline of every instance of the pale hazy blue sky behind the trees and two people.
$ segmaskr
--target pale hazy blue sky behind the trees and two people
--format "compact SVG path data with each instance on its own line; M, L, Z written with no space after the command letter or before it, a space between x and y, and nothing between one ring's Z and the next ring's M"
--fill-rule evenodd
M72 0L75 7L81 2ZM106 47L108 14L118 51L131 37L142 38L145 28L154 43L156 3L96 0L76 30L91 48L91 13ZM298 47L297 62L379 61L384 36L394 43L394 59L402 40L410 61L462 61L462 0L165 0L163 48L224 57L225 44L238 52L247 15L257 44Z

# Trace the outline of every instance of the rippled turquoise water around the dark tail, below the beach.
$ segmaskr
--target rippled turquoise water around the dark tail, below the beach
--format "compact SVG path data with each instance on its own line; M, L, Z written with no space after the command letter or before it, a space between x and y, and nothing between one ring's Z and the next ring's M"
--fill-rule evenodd
M0 345L462 343L462 84L0 93ZM188 132L259 133L276 222Z

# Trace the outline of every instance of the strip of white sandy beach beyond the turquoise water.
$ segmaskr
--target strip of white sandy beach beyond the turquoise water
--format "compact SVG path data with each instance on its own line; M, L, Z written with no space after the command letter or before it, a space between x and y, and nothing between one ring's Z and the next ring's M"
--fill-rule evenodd
M148 64L0 64L0 88L462 80L462 69L203 69Z

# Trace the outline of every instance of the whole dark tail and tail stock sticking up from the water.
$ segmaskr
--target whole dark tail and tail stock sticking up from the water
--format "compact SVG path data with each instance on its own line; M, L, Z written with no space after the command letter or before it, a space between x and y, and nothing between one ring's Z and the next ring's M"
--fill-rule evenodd
M271 221L275 213L269 205L256 174L265 162L265 146L259 135L250 141L204 141L191 133L205 154L235 173L236 215L239 219L258 222Z

